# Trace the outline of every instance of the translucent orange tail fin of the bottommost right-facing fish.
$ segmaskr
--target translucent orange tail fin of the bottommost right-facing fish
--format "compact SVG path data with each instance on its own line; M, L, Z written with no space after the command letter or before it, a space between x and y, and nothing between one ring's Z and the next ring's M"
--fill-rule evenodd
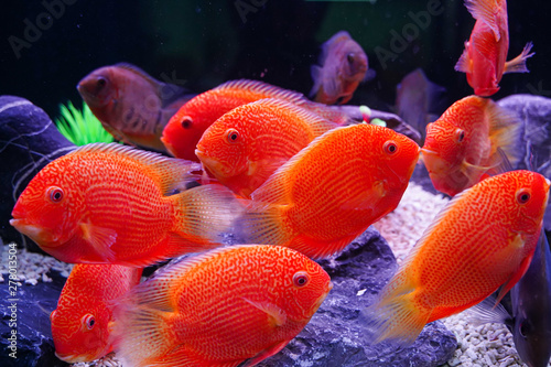
M156 282L142 283L114 311L112 345L125 366L149 366L171 349L174 310Z

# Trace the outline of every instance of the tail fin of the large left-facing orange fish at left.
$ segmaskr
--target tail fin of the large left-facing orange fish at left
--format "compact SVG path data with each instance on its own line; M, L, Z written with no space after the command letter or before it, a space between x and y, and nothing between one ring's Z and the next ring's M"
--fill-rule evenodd
M220 236L244 211L231 191L219 184L196 186L173 196L176 217L173 231L184 238L190 251L193 247L205 250L218 246Z

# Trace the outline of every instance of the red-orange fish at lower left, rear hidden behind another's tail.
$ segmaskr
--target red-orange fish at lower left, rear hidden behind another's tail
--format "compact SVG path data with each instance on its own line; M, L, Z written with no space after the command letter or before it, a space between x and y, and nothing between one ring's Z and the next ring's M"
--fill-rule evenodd
M117 265L73 268L51 315L55 355L67 363L91 361L112 352L112 301L140 282L142 269Z

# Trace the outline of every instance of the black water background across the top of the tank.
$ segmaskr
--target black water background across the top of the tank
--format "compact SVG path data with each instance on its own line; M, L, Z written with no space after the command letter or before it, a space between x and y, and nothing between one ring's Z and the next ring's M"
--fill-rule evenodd
M528 61L530 74L505 75L494 98L551 96L551 2L509 0L508 10L508 58L528 41L534 43L536 55ZM411 15L420 12L429 14L424 23ZM474 22L460 0L4 1L0 95L25 97L55 117L58 104L67 99L80 105L75 86L82 77L118 62L194 91L253 78L307 94L320 45L347 30L377 72L374 80L360 85L352 104L389 110L396 85L422 67L447 88L446 108L473 93L465 75L453 67ZM393 41L403 32L406 43ZM395 54L393 60L381 57L385 52Z

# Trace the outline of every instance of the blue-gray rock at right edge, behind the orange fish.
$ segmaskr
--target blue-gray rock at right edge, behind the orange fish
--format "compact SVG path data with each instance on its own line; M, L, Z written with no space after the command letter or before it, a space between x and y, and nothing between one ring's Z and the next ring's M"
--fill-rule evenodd
M523 123L525 159L516 169L532 170L551 180L551 99L533 95L512 95L498 105L518 114ZM551 230L551 205L543 219Z

